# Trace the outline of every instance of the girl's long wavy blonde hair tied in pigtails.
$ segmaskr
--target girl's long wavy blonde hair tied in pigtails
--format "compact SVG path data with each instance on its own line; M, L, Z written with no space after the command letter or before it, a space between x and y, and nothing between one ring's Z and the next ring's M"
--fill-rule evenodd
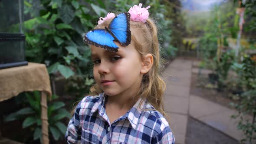
M95 29L104 29L105 26L109 25L111 20L105 20L96 26ZM161 62L157 26L153 20L148 19L146 23L130 21L130 28L135 29L136 34L139 34L139 37L143 38L142 41L139 41L134 35L135 32L131 31L131 40L135 42L135 49L139 52L141 58L143 59L143 56L147 54L153 56L153 65L149 72L143 75L140 89L133 100L137 101L140 97L146 98L156 110L166 116L163 105L165 83L160 78ZM98 95L102 92L102 89L97 84L93 85L90 89L90 95Z

